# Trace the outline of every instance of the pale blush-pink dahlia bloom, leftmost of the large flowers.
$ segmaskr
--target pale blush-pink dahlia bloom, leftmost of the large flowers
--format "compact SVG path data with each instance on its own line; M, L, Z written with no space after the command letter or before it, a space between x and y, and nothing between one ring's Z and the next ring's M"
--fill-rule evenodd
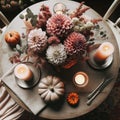
M46 32L42 29L31 30L28 35L28 48L34 53L41 53L47 47Z

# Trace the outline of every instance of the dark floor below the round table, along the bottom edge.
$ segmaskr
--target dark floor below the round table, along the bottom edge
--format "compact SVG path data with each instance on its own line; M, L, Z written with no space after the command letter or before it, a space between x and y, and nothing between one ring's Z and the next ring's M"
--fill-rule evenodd
M120 73L108 98L96 109L70 120L120 120ZM19 120L47 120L25 111Z

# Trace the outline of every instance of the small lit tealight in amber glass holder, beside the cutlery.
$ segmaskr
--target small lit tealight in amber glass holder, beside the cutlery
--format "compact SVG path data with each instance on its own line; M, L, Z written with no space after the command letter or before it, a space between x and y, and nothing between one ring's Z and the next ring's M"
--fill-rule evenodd
M85 87L88 84L88 75L84 72L77 72L74 75L73 82L78 87Z

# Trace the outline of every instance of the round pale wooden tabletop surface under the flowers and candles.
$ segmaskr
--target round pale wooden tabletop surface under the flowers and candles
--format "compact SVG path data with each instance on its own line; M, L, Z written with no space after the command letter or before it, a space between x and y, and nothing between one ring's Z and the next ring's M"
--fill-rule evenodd
M29 8L33 11L33 13L38 14L40 6L44 4L44 5L49 6L50 11L53 12L53 6L59 2L62 2L63 4L65 4L66 7L69 9L69 11L74 11L79 6L79 3L74 2L74 1L48 0L48 1L43 1L43 2L39 2L37 4L34 4L34 5L30 6ZM21 13L24 13L25 11L26 10L22 11ZM92 9L89 9L87 12L85 12L85 15L90 16L91 18L101 18L101 16ZM53 106L47 106L43 111L41 111L39 113L40 117L48 118L48 119L75 118L75 117L84 115L84 114L92 111L93 109L95 109L109 95L111 89L113 88L113 85L115 83L115 80L116 80L117 74L118 74L119 61L118 61L117 56L119 55L119 50L118 50L118 45L115 40L114 34L108 27L107 23L103 20L99 23L99 25L101 28L103 28L106 31L106 34L108 36L108 39L103 40L102 42L109 41L115 47L112 64L106 69L96 70L96 69L92 68L87 62L79 62L79 63L77 63L77 65L70 68L69 70L63 69L62 72L60 72L60 75L62 76L63 82L65 83L65 90L66 90L65 97L69 92L73 92L73 91L78 92L80 95L80 103L77 107L71 107L67 103L66 98L65 98L62 102L60 101L60 103L57 103L57 105L55 104ZM24 26L24 23L21 22L21 19L19 18L19 15L18 15L10 23L6 32L10 31L10 30L16 30L22 34L23 32L25 32L25 29L23 29L23 26ZM97 41L100 41L100 40L97 40ZM10 63L6 64L6 62L8 62L8 60L6 60L6 59L8 59L8 51L7 51L7 45L4 42L4 35L3 35L3 39L2 39L2 47L0 49L1 49L0 61L2 61L2 62L0 62L1 63L0 64L0 72L2 74L9 68L9 65L11 65ZM78 71L83 71L83 72L87 73L87 75L89 76L89 84L88 84L87 88L82 89L82 90L76 88L72 82L73 75ZM103 78L106 77L106 75L109 75L109 74L113 74L115 76L114 80L101 92L101 94L99 96L97 96L97 98L93 101L93 103L90 106L88 106L86 104L87 95L98 86L98 84L103 80ZM13 98L15 98L15 95L13 96ZM19 103L19 99L16 99L16 101ZM20 103L20 105L25 108L25 106L23 106L22 103Z

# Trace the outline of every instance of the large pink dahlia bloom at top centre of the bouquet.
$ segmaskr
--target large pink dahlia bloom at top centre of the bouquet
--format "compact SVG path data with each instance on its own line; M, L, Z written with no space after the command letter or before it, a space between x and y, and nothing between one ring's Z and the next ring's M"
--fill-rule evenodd
M58 37L66 36L72 29L71 18L64 14L55 14L47 21L47 33Z

